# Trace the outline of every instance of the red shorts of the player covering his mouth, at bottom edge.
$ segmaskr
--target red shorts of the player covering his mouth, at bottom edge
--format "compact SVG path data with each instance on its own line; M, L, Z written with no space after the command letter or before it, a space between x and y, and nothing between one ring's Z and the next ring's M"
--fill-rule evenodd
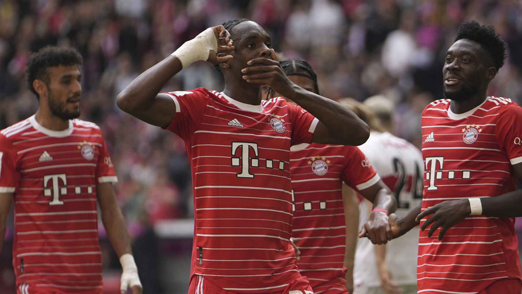
M191 278L191 285L188 288L188 294L238 294L248 293L249 291L233 292L219 288L218 286L210 283L209 280L203 276L194 275ZM256 293L256 290L250 291ZM259 293L257 291L257 293ZM273 292L274 294L313 294L310 281L306 277L299 277L293 280L286 288L281 292Z

